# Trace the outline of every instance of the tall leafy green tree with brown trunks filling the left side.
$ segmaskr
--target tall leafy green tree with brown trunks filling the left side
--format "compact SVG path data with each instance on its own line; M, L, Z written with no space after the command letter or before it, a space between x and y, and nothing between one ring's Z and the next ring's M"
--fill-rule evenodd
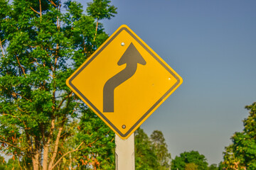
M0 145L21 168L66 169L67 160L78 167L74 153L90 143L70 142L72 132L81 115L92 113L65 79L107 39L98 22L116 13L109 4L93 1L85 15L75 1L0 0Z

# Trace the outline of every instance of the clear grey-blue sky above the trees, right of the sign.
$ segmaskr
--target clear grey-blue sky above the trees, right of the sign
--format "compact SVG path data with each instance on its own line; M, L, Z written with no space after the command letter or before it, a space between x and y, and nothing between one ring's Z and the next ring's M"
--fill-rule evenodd
M80 0L83 6L88 1ZM172 158L197 150L209 164L242 130L256 101L255 0L112 0L111 35L126 24L181 77L183 84L144 122L161 130Z

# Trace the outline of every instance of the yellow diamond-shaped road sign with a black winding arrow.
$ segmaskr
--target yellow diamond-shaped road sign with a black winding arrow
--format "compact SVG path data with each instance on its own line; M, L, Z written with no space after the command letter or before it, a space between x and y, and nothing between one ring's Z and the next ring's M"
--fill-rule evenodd
M124 140L181 85L182 78L123 25L66 83Z

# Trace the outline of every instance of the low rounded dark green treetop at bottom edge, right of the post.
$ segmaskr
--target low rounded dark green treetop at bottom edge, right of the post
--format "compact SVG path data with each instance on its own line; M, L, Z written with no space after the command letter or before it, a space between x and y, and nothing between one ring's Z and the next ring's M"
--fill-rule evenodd
M198 169L208 169L206 157L203 154L199 154L197 151L183 152L179 157L176 156L175 159L171 161L171 169L184 170L186 169L186 165L190 163L196 164ZM192 166L192 164L189 166Z

